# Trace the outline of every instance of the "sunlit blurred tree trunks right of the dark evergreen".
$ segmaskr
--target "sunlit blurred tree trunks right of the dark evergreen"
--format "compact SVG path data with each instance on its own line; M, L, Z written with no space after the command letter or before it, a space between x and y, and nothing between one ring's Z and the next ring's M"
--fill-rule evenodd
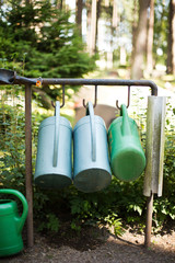
M128 66L136 79L152 76L158 65L174 75L174 0L79 0L77 23L90 54L105 58L104 67Z

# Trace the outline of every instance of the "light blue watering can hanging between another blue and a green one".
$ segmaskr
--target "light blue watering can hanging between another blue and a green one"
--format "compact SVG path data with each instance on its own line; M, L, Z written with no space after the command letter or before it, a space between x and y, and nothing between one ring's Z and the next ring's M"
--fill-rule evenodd
M94 116L91 102L86 114L73 129L73 182L78 190L91 193L105 188L112 174L105 123Z

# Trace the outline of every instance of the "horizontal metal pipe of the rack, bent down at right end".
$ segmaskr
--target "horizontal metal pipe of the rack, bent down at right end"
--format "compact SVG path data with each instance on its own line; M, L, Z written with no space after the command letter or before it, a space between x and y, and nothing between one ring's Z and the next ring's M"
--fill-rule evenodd
M36 84L37 79L16 76L13 84ZM151 95L158 95L158 87L151 80L120 80L120 79L42 79L42 84L69 84L69 85L139 85L150 87Z

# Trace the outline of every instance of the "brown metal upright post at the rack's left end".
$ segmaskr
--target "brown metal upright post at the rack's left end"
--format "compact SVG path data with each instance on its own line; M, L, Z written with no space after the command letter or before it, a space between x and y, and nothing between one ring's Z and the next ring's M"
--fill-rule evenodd
M33 187L32 187L32 89L25 85L25 187L28 203L27 247L34 244L33 230Z

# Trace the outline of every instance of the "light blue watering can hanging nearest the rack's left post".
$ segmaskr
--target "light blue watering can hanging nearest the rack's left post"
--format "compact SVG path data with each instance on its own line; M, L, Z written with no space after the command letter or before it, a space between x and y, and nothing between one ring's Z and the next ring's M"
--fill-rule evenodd
M60 116L56 102L56 116L44 119L39 126L35 168L35 183L44 188L62 188L72 179L72 128Z

